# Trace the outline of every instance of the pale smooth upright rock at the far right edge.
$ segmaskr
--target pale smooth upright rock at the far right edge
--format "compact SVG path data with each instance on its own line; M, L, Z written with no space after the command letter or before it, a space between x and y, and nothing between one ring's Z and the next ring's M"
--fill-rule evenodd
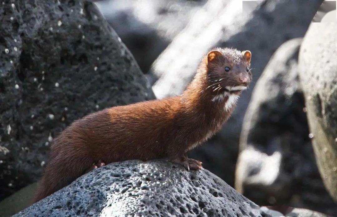
M312 23L299 54L299 71L316 162L337 202L337 24Z

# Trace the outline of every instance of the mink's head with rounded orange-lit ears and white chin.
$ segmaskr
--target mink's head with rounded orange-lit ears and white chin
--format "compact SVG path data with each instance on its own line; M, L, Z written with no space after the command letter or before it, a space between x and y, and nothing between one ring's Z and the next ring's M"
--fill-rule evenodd
M238 51L231 48L216 48L205 59L209 89L215 94L229 92L240 93L252 80L250 71L250 51Z

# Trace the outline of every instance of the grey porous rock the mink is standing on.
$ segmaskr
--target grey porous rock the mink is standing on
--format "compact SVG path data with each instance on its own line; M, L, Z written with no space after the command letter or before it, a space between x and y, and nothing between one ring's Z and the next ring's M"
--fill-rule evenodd
M262 216L260 212L206 169L128 160L95 169L14 216Z

